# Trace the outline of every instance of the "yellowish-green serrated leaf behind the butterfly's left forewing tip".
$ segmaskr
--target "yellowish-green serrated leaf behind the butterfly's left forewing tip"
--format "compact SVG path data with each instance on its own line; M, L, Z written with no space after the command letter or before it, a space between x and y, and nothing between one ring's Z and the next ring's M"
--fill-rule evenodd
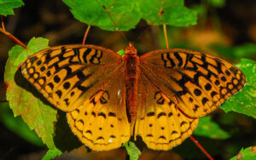
M9 51L4 79L8 84L6 99L9 100L9 106L15 117L21 116L30 129L35 129L46 146L55 150L53 123L56 121L56 110L38 99L37 94L34 96L32 94L34 92L27 91L34 87L26 81L20 71L17 71L20 62L26 60L28 55L46 48L48 48L48 40L41 37L32 38L27 49L16 45Z

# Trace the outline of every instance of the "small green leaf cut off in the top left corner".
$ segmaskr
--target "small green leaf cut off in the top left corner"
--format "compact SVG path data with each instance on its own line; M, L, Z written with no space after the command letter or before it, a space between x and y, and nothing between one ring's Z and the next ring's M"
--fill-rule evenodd
M15 8L24 5L21 0L0 0L0 14L6 16L7 14L15 14Z

